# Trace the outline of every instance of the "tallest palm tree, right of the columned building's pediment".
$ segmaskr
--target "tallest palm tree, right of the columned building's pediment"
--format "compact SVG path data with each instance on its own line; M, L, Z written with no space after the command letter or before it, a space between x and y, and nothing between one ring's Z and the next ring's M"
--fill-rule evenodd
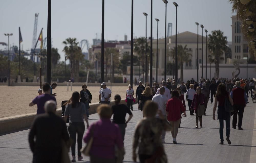
M220 60L224 60L225 58L222 57L223 53L225 52L227 46L227 37L223 36L223 32L220 30L215 30L209 34L209 41L208 41L208 48L211 52L211 55L215 59L215 71L216 77L219 78L219 62Z

